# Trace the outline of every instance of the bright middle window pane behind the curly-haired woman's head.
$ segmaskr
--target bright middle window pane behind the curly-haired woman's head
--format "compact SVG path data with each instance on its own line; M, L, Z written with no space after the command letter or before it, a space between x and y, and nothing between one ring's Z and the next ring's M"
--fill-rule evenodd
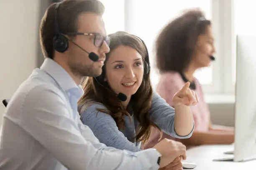
M147 47L151 62L151 81L154 88L159 82L154 57L154 42L159 31L183 10L200 7L208 19L212 18L212 0L129 0L125 6L128 15L126 31L141 37ZM202 84L213 82L212 66L196 72L195 76Z

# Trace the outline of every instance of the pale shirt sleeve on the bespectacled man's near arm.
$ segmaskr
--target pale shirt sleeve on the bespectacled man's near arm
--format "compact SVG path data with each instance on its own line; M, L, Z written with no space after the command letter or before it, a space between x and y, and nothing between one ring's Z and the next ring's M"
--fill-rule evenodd
M80 125L69 112L69 103L56 89L36 86L22 102L20 127L70 170L159 168L160 154L154 149L131 153L106 147L98 142L90 128L79 129Z

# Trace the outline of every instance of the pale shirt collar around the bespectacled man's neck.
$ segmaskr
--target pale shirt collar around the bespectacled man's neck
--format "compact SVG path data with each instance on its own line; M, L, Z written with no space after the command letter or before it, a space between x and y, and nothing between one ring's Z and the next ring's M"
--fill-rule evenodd
M41 70L44 70L47 72L51 77L54 78L54 80L59 84L59 86L64 91L70 91L71 89L77 89L79 90L79 97L81 97L84 93L84 90L82 90L81 85L77 85L72 77L69 75L69 73L64 70L63 67L61 67L57 62L50 58L46 58L44 60L44 63L40 67Z

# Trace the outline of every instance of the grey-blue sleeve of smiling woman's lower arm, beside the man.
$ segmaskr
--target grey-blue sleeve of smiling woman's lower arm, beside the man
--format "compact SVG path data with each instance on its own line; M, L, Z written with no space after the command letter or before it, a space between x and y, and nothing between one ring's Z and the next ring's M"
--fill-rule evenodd
M84 125L87 125L92 130L96 138L100 140L100 143L120 150L138 152L140 149L118 130L113 117L97 109L106 109L106 107L100 103L92 104L82 112L81 120Z

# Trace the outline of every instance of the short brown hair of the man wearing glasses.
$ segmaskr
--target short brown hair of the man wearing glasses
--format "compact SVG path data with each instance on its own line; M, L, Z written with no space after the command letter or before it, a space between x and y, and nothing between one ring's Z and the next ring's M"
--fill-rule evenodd
M62 34L77 32L77 18L81 13L92 12L103 15L104 6L99 0L64 0L58 10L59 31ZM55 35L55 6L51 4L41 20L40 44L45 57L54 57L53 37Z

